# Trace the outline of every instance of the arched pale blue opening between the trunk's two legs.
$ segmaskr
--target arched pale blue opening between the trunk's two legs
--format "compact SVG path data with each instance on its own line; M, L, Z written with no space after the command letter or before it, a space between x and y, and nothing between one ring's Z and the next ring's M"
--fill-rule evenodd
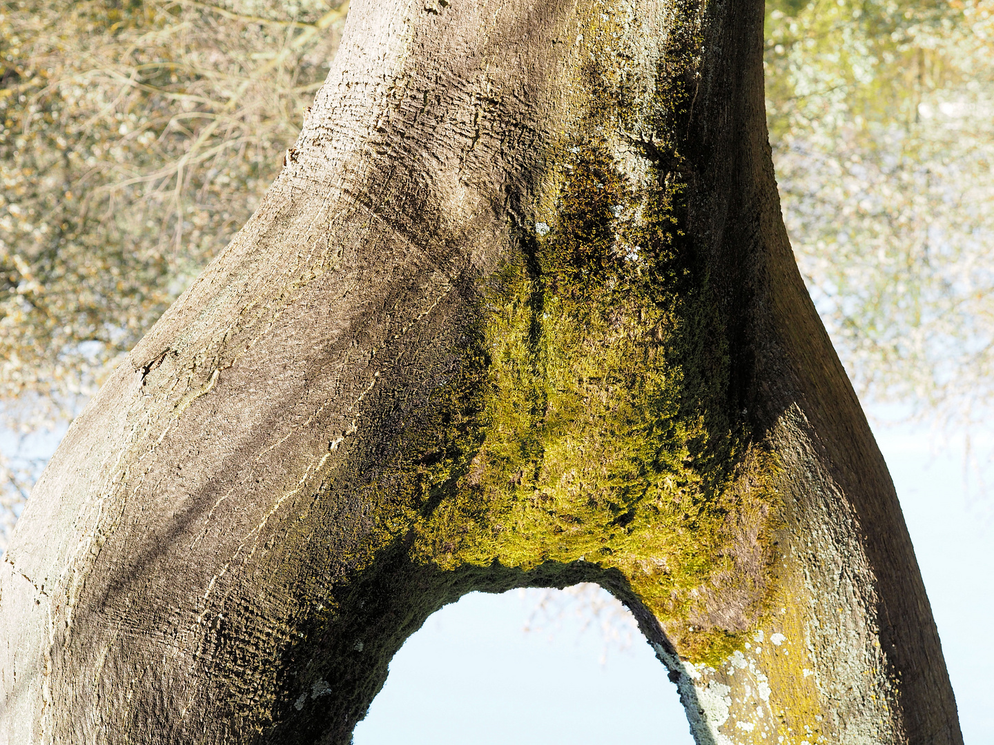
M471 592L390 663L355 745L693 745L666 668L605 590Z

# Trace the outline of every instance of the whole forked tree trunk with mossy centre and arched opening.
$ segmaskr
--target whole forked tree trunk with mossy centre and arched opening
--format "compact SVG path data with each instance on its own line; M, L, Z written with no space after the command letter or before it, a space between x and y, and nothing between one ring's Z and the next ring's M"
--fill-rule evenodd
M356 2L17 526L0 741L345 743L444 603L593 581L701 745L960 743L761 49L757 0Z

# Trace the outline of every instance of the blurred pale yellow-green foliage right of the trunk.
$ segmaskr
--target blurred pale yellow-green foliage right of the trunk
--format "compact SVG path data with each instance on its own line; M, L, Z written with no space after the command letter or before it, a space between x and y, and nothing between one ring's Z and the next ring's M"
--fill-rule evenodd
M994 3L777 0L767 119L794 253L864 400L994 400Z

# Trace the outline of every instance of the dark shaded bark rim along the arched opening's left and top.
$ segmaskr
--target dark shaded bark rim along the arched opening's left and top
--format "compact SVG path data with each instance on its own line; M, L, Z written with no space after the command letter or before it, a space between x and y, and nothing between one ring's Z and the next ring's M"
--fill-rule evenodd
M285 689L298 692L277 714L264 736L273 743L349 743L387 680L388 666L407 639L442 606L469 592L501 593L520 587L569 587L595 582L617 597L635 616L642 634L678 660L653 615L638 600L624 576L585 561L549 561L529 571L494 563L464 565L452 571L417 564L407 546L396 544L367 567L356 581L329 598L336 606L330 622L314 614L301 625L303 639L283 667ZM658 657L658 655L657 655ZM669 663L663 661L669 667ZM682 671L670 670L676 682ZM681 685L685 707L697 707L692 685ZM715 745L708 738L698 745Z

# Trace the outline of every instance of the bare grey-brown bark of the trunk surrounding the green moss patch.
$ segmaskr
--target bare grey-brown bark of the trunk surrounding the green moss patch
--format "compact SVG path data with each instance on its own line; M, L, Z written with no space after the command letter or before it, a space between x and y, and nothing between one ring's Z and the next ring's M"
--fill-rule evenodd
M578 581L632 608L701 745L961 743L894 488L780 219L761 25L756 2L355 2L264 204L74 422L18 523L0 743L346 743L430 613ZM639 112L678 83L670 166ZM605 98L644 127L596 114ZM768 545L737 537L761 554L754 592L716 580L680 623L586 554L421 560L392 522L488 282L532 267L570 137L602 138L635 184L682 174L722 405L778 464ZM459 457L419 515L475 483ZM696 659L694 624L738 647Z

